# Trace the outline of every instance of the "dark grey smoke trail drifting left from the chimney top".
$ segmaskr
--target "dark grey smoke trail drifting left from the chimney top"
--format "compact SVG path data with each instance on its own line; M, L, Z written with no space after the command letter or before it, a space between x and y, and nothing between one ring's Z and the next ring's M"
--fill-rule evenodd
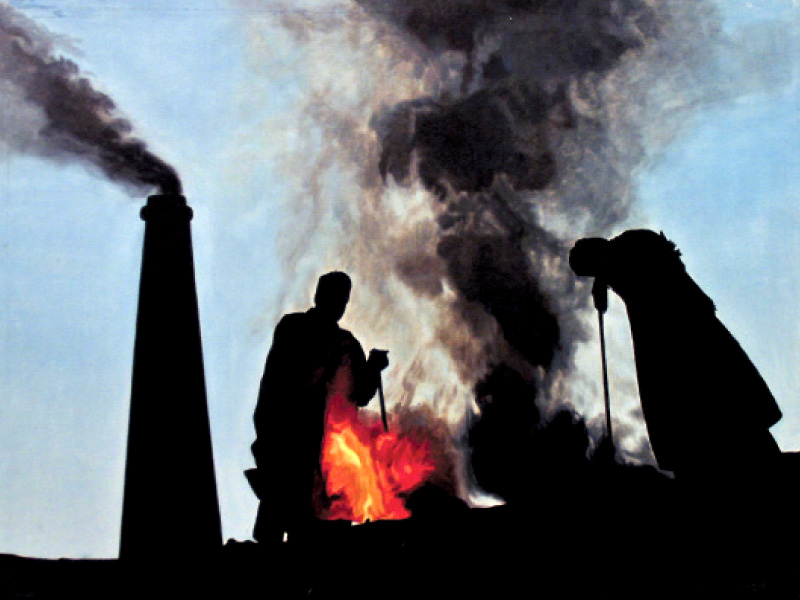
M114 102L78 66L56 54L54 37L0 3L0 144L10 151L75 160L135 189L180 193L174 169L132 135Z

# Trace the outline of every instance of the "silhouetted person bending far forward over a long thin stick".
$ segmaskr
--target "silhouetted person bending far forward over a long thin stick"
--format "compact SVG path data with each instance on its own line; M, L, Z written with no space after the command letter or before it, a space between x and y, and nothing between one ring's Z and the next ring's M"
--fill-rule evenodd
M650 443L676 479L756 475L780 455L769 428L781 412L761 375L716 317L663 234L626 231L579 240L578 275L625 302Z

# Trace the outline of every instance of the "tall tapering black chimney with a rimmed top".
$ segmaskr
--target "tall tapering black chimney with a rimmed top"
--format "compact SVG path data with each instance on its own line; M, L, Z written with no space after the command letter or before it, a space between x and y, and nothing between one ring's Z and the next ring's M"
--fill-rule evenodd
M222 546L189 222L180 195L145 221L120 559L207 556Z

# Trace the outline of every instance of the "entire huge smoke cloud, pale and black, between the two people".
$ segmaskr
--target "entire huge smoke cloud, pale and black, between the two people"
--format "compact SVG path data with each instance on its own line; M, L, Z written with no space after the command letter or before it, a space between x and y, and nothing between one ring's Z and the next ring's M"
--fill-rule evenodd
M354 275L349 325L391 350L395 414L449 424L462 491L470 461L505 495L524 457L585 461L602 396L575 383L593 322L568 249L624 223L636 167L711 93L710 2L239 4L258 74L274 74L271 44L302 56L308 93L280 118L303 140L280 163L297 192L291 307L323 270ZM618 409L621 455L645 455L638 407Z

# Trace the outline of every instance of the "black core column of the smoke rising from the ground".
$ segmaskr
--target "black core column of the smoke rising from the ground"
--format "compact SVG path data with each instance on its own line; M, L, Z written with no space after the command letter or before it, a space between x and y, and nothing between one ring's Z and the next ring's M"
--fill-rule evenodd
M384 179L405 185L418 177L445 207L437 254L449 283L466 305L481 306L497 322L507 344L475 386L481 419L468 437L473 472L485 490L509 502L530 499L527 486L580 478L593 449L574 410L545 407L542 414L534 403L536 398L544 403L537 388L547 384L531 374L537 368L562 370L585 334L576 320L578 305L565 306L563 298L543 289L558 277L546 265L557 262L564 247L532 209L537 194L550 189L558 195L559 187L566 187L561 181L572 176L571 165L559 156L570 137L586 144L579 152L607 154L610 136L601 121L581 114L576 90L601 102L605 74L656 42L666 27L667 5L644 0L360 4L429 53L464 55L458 93L410 99L377 121L379 168ZM615 188L627 174L591 174L609 175L619 181L603 190L608 196L584 199L591 203L593 229L612 224L603 222L607 207L618 217L626 214L625 199ZM569 200L563 198L565 204ZM579 288L561 292L586 298ZM475 318L474 309L465 313L468 324Z

